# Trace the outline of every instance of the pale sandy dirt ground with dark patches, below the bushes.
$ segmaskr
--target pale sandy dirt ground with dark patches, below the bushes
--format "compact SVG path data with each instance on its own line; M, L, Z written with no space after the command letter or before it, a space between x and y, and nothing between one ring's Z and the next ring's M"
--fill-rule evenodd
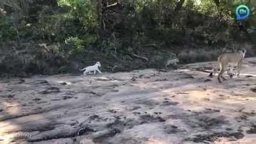
M221 84L212 65L1 79L0 143L255 143L256 58Z

